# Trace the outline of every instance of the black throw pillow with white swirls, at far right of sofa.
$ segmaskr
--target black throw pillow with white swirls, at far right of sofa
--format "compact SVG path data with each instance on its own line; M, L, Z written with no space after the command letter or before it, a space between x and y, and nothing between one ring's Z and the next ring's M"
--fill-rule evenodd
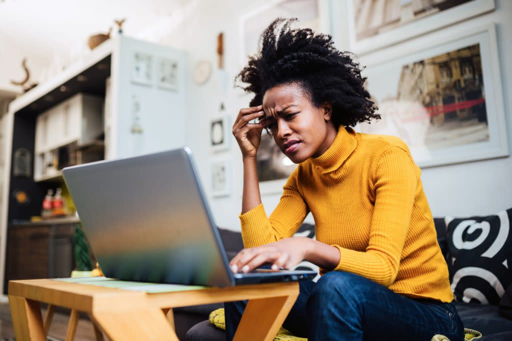
M512 283L512 209L487 217L446 217L455 299L498 304Z

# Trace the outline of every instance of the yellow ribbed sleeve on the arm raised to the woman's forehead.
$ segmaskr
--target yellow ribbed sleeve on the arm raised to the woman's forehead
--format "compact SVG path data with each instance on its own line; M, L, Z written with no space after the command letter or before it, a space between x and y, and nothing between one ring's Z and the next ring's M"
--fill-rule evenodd
M270 218L263 204L239 216L244 246L260 246L293 236L308 213L307 204L297 189L295 170L283 187L283 195Z

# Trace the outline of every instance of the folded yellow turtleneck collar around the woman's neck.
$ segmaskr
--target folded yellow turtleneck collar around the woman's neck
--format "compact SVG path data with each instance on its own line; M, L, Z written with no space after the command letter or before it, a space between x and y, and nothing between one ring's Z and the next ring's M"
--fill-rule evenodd
M339 126L336 138L329 148L318 157L310 160L322 173L338 169L357 146L355 131L350 127Z

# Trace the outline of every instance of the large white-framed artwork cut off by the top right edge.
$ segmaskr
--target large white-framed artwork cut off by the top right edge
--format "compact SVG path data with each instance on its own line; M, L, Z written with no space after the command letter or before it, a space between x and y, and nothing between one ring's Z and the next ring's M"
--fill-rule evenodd
M362 55L494 9L494 0L348 0L350 50Z

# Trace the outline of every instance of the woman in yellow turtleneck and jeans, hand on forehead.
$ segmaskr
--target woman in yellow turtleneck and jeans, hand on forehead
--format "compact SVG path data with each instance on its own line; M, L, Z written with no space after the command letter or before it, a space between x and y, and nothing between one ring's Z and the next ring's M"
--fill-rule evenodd
M447 266L408 147L395 137L350 128L379 118L358 63L337 51L329 35L291 29L292 21L272 22L260 52L238 75L254 98L233 125L243 155L246 248L232 259L232 270L264 264L279 270L302 260L318 265L323 276L300 283L283 325L310 340L430 340L435 334L462 340ZM265 128L298 164L269 218L256 167ZM309 212L316 240L289 238ZM225 304L228 339L244 307Z

